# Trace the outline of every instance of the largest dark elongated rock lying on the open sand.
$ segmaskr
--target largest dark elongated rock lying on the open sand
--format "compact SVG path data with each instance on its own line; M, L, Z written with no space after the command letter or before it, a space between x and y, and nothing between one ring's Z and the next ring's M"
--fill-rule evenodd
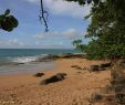
M40 85L46 85L49 83L55 83L59 81L63 81L65 78L66 73L58 73L49 78L45 78L40 82Z

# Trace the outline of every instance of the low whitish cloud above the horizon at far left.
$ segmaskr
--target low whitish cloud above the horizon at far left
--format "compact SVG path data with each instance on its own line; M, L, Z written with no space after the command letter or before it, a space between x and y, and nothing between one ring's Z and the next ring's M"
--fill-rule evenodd
M24 43L18 39L0 40L0 48L22 48Z

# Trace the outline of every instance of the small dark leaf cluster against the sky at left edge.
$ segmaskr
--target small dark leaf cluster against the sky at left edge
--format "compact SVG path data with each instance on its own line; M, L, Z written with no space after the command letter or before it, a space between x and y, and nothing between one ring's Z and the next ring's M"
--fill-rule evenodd
M3 14L0 14L0 29L10 32L17 28L18 24L18 20L10 14L9 9L7 9Z

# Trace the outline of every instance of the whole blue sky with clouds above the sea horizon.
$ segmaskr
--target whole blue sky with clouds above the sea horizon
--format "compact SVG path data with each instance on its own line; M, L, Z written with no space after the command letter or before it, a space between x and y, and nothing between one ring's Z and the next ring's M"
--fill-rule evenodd
M19 25L11 32L0 30L0 49L72 49L72 41L84 39L90 7L63 0L43 0L49 32L39 20L40 0L0 0L0 14L11 10Z

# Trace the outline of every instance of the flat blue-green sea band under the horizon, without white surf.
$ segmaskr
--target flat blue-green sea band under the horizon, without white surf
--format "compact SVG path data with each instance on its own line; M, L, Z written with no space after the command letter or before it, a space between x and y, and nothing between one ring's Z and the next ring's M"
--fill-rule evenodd
M64 49L0 49L0 57L7 56L32 56L40 54L56 54L56 53L76 53L75 50Z

